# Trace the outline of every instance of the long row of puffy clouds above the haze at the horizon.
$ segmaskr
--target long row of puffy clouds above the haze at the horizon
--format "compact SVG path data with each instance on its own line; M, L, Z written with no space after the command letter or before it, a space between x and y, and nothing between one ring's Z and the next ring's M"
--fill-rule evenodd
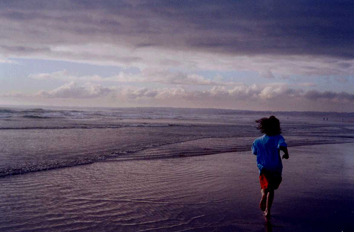
M302 89L292 88L291 85L285 83L270 83L267 85L250 85L240 83L232 88L225 88L225 86L213 86L204 91L187 91L182 86L170 88L138 88L135 86L114 86L104 87L102 85L87 82L85 85L72 81L53 89L51 91L39 91L35 94L26 94L21 92L10 92L2 94L1 97L41 97L41 98L97 98L103 97L110 93L125 96L129 99L137 98L155 98L155 99L186 99L189 101L238 101L238 100L274 100L274 99L295 99L305 98L309 100L345 100L354 101L354 94L347 92L319 92L316 90L309 90L307 92ZM171 105L172 106L172 105Z

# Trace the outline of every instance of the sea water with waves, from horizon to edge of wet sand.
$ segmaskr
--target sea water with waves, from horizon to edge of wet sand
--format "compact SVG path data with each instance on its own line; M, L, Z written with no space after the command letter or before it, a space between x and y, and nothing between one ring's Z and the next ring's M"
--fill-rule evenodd
M255 120L275 115L289 145L346 143L354 113L185 108L0 108L0 176L107 159L249 150Z

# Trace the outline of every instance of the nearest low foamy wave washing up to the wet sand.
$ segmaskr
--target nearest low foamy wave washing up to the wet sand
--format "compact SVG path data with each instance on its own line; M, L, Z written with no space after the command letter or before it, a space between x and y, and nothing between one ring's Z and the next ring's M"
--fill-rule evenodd
M162 159L162 158L178 158L190 156L212 155L226 152L249 151L250 144L255 137L213 137L213 138L197 138L174 143L150 144L142 147L136 147L129 150L122 150L108 153L107 155L90 156L80 159L53 160L40 163L28 163L11 168L0 169L0 177L7 175L24 174L29 172L37 172L50 170L55 168L72 167L82 164L90 164L93 162L119 162L139 159ZM318 144L336 144L336 143L353 143L353 139L323 139L318 137L311 138L287 138L290 139L288 146L305 146ZM235 143L235 140L238 143Z

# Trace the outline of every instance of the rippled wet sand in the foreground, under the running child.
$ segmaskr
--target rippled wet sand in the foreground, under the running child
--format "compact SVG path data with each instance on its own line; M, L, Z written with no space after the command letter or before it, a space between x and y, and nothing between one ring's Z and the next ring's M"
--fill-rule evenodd
M0 231L353 231L354 144L289 147L271 224L250 151L0 179Z

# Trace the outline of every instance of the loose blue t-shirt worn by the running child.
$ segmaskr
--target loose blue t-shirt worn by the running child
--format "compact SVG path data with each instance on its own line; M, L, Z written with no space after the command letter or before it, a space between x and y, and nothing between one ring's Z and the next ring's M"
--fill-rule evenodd
M279 146L286 147L284 138L278 134L273 136L263 135L253 142L252 152L257 156L259 173L265 168L270 172L280 172L283 169Z

